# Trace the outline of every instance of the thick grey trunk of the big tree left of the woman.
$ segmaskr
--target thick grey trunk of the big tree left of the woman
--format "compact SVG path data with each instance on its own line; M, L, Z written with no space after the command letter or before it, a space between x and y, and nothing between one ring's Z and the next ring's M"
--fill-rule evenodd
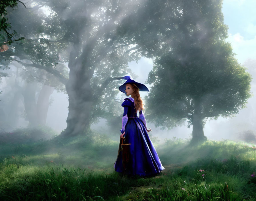
M90 113L93 105L91 78L95 66L90 62L97 37L83 47L79 56L79 37L74 35L73 48L69 54L69 80L66 90L69 97L69 113L67 128L61 136L77 136L88 134L90 130Z

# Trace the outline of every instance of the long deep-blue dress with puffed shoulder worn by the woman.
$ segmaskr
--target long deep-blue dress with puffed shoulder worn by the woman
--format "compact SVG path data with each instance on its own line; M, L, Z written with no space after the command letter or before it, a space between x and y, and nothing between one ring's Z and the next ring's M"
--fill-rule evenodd
M125 125L125 143L131 143L129 146L129 162L125 163L125 171L122 161L122 151L119 150L114 168L116 172L128 175L151 176L159 174L165 169L157 155L155 147L151 142L143 121L137 117L136 109L134 109L134 99L126 98L122 103L125 109L123 116L128 116ZM125 108L127 107L127 108ZM121 142L120 142L121 143Z

